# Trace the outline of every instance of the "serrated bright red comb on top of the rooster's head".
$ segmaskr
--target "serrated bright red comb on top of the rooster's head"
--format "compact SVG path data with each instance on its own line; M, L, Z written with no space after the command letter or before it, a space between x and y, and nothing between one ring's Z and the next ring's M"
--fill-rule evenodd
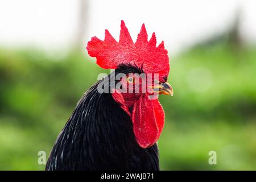
M115 69L119 64L130 63L142 67L144 73L158 73L159 81L166 81L170 70L163 41L156 47L155 33L148 41L144 24L135 43L122 20L119 42L106 30L104 41L94 36L86 48L90 56L97 58L96 63L101 68Z

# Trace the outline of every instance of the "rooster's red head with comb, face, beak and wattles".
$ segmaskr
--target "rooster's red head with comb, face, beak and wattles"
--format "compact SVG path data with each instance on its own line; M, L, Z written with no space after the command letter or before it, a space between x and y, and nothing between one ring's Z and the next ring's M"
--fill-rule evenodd
M105 30L104 40L94 36L86 48L101 68L122 73L111 90L112 96L130 116L139 146L155 144L164 126L158 94L173 94L167 83L170 64L164 43L156 47L155 33L148 40L144 24L134 43L122 20L119 42Z

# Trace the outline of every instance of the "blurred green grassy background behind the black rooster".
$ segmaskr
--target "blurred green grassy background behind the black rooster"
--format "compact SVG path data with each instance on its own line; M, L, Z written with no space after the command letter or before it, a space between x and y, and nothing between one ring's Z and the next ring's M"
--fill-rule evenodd
M171 57L174 97L160 96L162 169L256 169L255 71L256 47L226 37ZM82 51L57 57L0 48L0 169L44 169L38 151L48 158L77 101L102 72L109 73ZM209 151L217 152L217 165L209 165Z

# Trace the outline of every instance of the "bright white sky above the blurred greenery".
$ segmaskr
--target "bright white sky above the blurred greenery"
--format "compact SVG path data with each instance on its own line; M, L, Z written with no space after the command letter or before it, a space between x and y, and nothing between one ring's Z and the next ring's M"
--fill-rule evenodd
M148 36L156 32L170 53L228 30L238 7L242 10L241 35L256 42L254 0L90 0L84 43L92 36L104 39L108 29L119 38L125 20L136 40L141 24ZM47 50L68 48L76 38L79 0L0 0L0 46L36 46Z

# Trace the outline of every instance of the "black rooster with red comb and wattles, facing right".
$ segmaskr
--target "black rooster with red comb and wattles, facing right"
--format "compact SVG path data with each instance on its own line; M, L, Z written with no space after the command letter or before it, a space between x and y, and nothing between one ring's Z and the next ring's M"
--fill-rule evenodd
M144 24L134 43L121 21L119 42L105 30L104 41L94 36L86 48L100 67L114 71L82 96L46 170L159 170L156 142L164 110L158 94L173 94L166 82L170 65L164 43L156 47L155 33L148 41Z

